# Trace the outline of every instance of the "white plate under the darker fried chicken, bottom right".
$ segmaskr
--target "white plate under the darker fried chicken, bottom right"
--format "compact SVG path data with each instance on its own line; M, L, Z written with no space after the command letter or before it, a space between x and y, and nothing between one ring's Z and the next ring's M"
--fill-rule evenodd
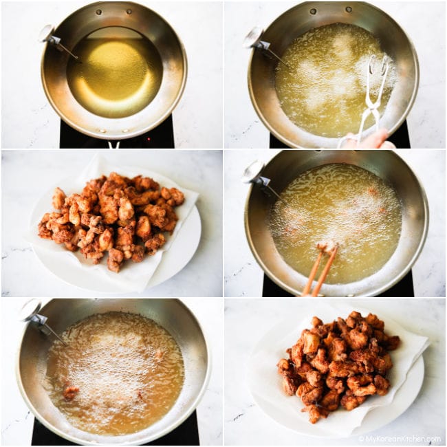
M321 304L318 303L318 307L321 307ZM319 315L319 310L316 312L316 315ZM360 309L358 309L360 312ZM343 315L343 314L340 314ZM362 312L363 315L363 312ZM382 318L380 314L378 314L379 318L385 321L385 330L387 327L387 319ZM336 316L334 316L336 318ZM326 438L337 438L337 437L349 437L349 436L358 436L364 433L369 433L372 430L376 430L389 422L393 421L396 417L400 416L406 408L411 405L411 403L417 397L419 390L421 389L422 382L424 381L424 359L422 355L416 360L413 366L408 370L406 375L406 379L400 388L395 392L393 400L390 404L386 406L377 406L375 408L371 408L371 410L364 416L360 426L356 427L351 433L346 434L334 434L330 433L328 430L325 430L325 421L331 417L329 415L328 419L320 419L316 424L311 424L308 422L307 417L301 418L297 417L296 411L299 411L299 408L303 406L301 401L296 401L296 408L294 411L290 411L290 408L283 406L279 411L277 405L273 405L272 402L268 400L268 398L264 398L261 393L259 393L259 384L256 385L254 382L254 374L251 373L256 367L254 365L254 358L259 356L260 353L265 353L265 346L268 343L271 344L272 338L277 339L281 338L281 334L287 334L287 330L290 329L290 322L293 319L288 318L287 320L281 322L279 325L275 325L270 331L268 331L262 338L259 340L256 347L252 351L250 358L248 359L248 387L250 389L250 393L254 399L254 402L261 408L261 410L267 414L269 417L274 419L276 422L289 428L290 430L294 430L296 433L300 433L301 435L307 435L312 437L326 437ZM323 321L326 319L323 318ZM390 322L391 323L391 322ZM295 323L296 324L296 323ZM310 327L310 322L307 327ZM391 324L389 324L391 327ZM393 327L390 333L393 335L400 335L398 331L395 329L398 327L397 323L393 322ZM405 329L403 329L405 331ZM404 332L402 332L404 333ZM299 333L296 338L298 338ZM286 347L283 347L283 351L285 351ZM282 347L281 347L282 349ZM268 354L270 356L270 353ZM393 354L391 353L391 356ZM259 357L258 357L259 358ZM276 359L276 362L279 358ZM270 376L269 378L265 378L265 391L268 392L276 392L278 393L278 401L285 397L284 393L281 390L281 378L276 372L276 367L272 365L272 372L275 377ZM274 388L274 390L273 390ZM386 397L386 396L385 396ZM296 397L285 397L288 399L296 399ZM380 396L375 397L380 399ZM284 401L285 402L285 401ZM342 411L342 410L338 410ZM356 411L356 410L353 410ZM302 413L307 415L307 413ZM334 415L334 413L332 413ZM333 416L334 417L334 416Z

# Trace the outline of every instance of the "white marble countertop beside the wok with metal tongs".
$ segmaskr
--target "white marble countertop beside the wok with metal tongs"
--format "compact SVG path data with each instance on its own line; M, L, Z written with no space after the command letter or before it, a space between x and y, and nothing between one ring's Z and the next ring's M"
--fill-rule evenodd
M269 133L252 107L247 70L250 51L243 38L254 27L268 25L293 1L225 3L225 129L226 148L268 148ZM419 58L419 91L408 118L413 148L446 147L446 4L444 1L371 1L391 15L410 36ZM430 30L428 32L428 30ZM231 51L227 49L231 48Z

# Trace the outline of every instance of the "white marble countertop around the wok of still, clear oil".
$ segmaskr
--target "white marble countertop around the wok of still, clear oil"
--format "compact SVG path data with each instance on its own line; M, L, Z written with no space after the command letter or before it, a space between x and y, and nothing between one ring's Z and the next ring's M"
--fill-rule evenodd
M37 37L44 25L58 25L87 3L91 1L1 3L3 148L58 148L60 120L43 91L40 72L43 44ZM221 148L221 3L140 3L164 17L186 49L186 89L173 111L175 147Z

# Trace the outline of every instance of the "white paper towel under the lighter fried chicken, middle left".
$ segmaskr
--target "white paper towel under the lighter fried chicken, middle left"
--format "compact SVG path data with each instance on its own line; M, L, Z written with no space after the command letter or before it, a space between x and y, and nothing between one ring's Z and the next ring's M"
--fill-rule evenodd
M107 268L107 254L99 264L94 264L85 259L83 254L79 251L69 252L65 249L63 244L58 245L48 239L41 239L37 232L37 226L45 212L52 211L52 195L56 186L59 186L67 196L72 193L80 193L86 182L90 179L98 178L101 175L109 175L111 172L116 172L126 177L135 177L135 175L140 174L146 177L152 177L155 181L160 182L160 186L166 186L166 188L179 188L185 196L184 203L175 208L175 213L179 220L177 221L173 234L166 237L167 241L164 246L158 250L154 256L144 257L143 261L140 263L134 263L129 260L124 262L118 274L111 272ZM163 252L169 250L175 237L177 237L180 228L182 228L182 223L184 223L190 211L194 208L198 196L198 193L182 188L182 186L175 184L171 179L168 179L163 175L149 171L141 166L116 166L97 154L88 166L76 176L76 178L72 177L56 182L54 187L51 190L48 190L43 197L39 199L39 202L36 204L36 207L32 212L30 228L25 235L25 239L33 246L50 250L51 252L58 254L61 257L61 262L67 264L67 268L87 269L89 272L94 271L97 275L106 276L107 281L116 287L117 292L142 292L153 276L157 266L162 261Z

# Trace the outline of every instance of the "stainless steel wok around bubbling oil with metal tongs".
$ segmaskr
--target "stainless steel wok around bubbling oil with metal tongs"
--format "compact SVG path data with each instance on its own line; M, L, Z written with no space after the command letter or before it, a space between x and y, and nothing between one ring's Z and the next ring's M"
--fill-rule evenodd
M419 63L415 48L408 36L389 15L360 1L308 1L284 12L262 36L280 57L286 48L311 28L329 23L358 25L377 37L382 49L393 58L397 69L397 82L389 99L380 127L393 133L404 122L415 101L419 85ZM289 120L281 109L275 89L277 61L259 50L252 50L248 64L248 89L254 109L265 126L290 147L336 148L338 138L325 138L308 133ZM360 125L353 123L352 132ZM373 131L370 127L363 135Z

